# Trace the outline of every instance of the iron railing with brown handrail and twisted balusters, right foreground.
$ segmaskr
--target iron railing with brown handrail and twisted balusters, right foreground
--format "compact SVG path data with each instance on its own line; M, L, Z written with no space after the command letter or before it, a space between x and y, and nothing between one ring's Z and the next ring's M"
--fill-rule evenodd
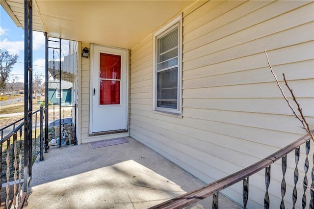
M314 131L312 131L314 133ZM311 171L311 179L312 184L308 185L308 179L307 179L307 173L309 170L309 152L310 152L310 142L311 142L311 136L309 134L299 138L298 140L294 141L293 143L289 144L288 146L284 147L283 149L273 153L272 155L265 157L264 159L260 160L259 162L244 168L234 174L231 174L225 178L222 178L220 180L217 180L213 183L209 183L203 187L200 187L198 189L195 189L193 191L190 191L186 194L183 194L181 196L178 196L176 198L173 198L169 201L166 201L164 203L161 203L157 206L152 207L151 209L181 209L185 208L187 206L190 206L194 203L197 203L200 200L203 200L209 196L212 195L212 208L218 209L218 194L221 190L234 185L235 183L238 183L240 181L243 181L243 206L244 208L247 207L248 199L249 199L249 177L253 174L261 171L262 169L265 169L265 187L266 191L264 194L264 208L268 209L270 205L270 197L268 194L268 187L270 185L270 171L271 171L271 164L276 162L279 159L282 159L282 173L283 173L283 179L281 182L281 204L280 208L285 209L285 201L284 197L286 194L286 180L285 180L285 174L287 170L287 155L293 151L295 151L295 168L294 168L294 174L293 174L293 180L294 180L294 187L293 187L293 193L292 193L292 203L293 203L293 209L297 206L297 182L299 179L299 170L298 170L298 162L300 158L300 146L305 143L305 162L304 162L304 178L303 178L303 195L302 195L302 208L304 209L306 205L308 204L310 209L314 208L314 167ZM313 154L313 161L314 161L314 154ZM307 193L310 192L311 198L307 199Z

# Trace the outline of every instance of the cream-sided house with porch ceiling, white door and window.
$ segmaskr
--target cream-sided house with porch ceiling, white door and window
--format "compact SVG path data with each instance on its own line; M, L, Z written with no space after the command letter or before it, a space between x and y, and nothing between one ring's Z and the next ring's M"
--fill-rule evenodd
M78 41L79 144L131 136L206 183L267 157L306 132L282 98L264 47L314 127L313 1L34 3L34 30ZM16 5L5 4L23 25ZM293 166L291 155L289 194ZM279 208L277 163L272 177L279 186L271 183L270 201ZM249 208L263 205L264 190L262 172L250 178ZM223 192L242 202L241 185ZM291 195L287 201L292 208Z

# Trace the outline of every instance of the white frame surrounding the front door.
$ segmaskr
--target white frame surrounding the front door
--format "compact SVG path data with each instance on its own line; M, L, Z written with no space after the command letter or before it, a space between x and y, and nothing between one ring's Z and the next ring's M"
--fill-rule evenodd
M126 88L125 88L125 101L126 101L126 130L121 130L121 131L103 131L103 132L92 132L92 104L93 104L93 75L96 69L93 68L94 66L94 47L104 47L107 49L112 49L112 50L122 50L126 51L127 57L126 57ZM103 135L103 134L116 134L120 132L129 132L129 74L130 74L130 50L128 49L123 49L123 48L117 48L117 47L107 47L103 45L98 45L98 44L90 44L90 84L89 84L89 98L90 98L90 103L89 103L89 135L90 136L95 136L95 135Z

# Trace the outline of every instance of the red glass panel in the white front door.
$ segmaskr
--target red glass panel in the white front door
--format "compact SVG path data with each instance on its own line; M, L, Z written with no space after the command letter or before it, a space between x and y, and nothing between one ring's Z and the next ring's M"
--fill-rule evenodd
M100 53L99 104L120 104L121 56Z

